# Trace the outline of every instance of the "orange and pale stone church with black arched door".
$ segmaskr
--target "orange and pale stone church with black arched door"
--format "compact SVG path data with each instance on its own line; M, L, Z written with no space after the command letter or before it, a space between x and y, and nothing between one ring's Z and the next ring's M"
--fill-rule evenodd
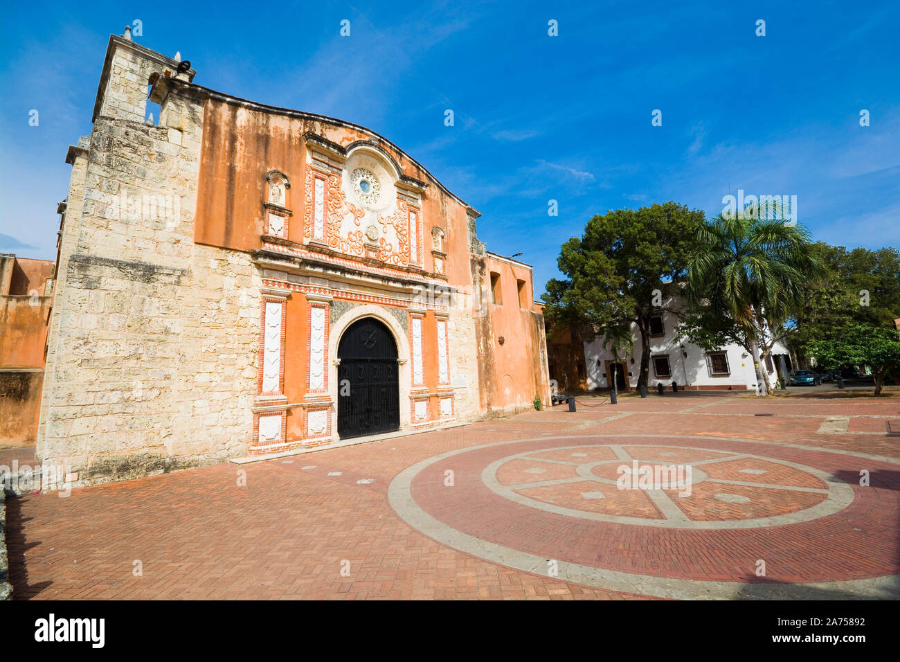
M373 131L179 60L112 36L68 150L38 459L85 485L547 400L531 268L472 206Z

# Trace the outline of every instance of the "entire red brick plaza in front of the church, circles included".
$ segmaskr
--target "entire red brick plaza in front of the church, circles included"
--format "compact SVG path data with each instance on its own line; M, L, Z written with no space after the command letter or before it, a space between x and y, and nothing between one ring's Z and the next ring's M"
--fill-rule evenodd
M9 499L14 597L900 596L900 398L580 401ZM635 460L689 494L618 489Z

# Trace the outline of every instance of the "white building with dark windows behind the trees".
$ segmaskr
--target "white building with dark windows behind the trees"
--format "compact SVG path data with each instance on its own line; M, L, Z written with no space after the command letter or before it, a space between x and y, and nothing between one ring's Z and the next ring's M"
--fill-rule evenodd
M656 388L658 384L670 387L675 382L680 389L689 390L756 390L756 373L749 351L737 344L726 345L715 351L699 348L679 339L675 331L678 323L678 315L670 312L663 312L651 320L648 388ZM643 348L636 324L632 324L632 334L635 338L634 347L624 357L624 352L620 350L617 362L611 350L603 346L602 337L584 342L589 390L611 388L614 370L619 373L619 391L637 387ZM779 372L787 372L788 366L788 349L781 341L777 341L766 361L770 386L778 380Z

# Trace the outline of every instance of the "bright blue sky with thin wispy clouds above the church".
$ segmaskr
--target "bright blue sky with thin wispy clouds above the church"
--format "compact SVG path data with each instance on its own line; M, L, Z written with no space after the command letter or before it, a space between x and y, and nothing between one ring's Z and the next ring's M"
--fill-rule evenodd
M900 243L896 2L50 0L2 11L0 252L56 257L67 146L90 132L109 34L135 20L135 41L180 50L202 86L395 142L482 212L488 249L535 266L536 295L594 213L675 200L715 215L739 188L797 195L816 239Z

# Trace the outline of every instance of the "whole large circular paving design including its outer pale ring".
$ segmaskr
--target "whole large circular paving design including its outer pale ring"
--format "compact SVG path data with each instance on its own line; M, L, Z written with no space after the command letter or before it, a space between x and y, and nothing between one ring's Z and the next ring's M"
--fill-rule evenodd
M618 489L617 468L635 459L691 466L690 494L665 480ZM878 480L860 487L863 469ZM771 441L539 437L423 460L396 476L389 498L434 540L586 585L666 597L897 597L898 476L894 463Z

